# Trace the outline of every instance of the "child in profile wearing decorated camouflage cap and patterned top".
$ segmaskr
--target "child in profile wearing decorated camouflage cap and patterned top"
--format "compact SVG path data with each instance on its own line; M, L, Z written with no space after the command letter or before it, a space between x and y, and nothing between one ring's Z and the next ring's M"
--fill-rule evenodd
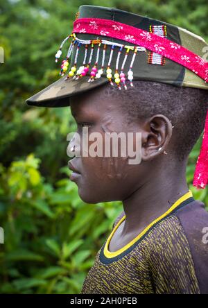
M208 293L208 213L185 174L205 126L193 182L205 189L207 43L180 27L98 6L80 6L71 36L60 71L72 55L67 78L27 103L70 105L78 135L69 144L75 153L69 168L80 198L123 202L81 293ZM84 155L84 127L102 137L102 148L106 133L140 132L141 161Z

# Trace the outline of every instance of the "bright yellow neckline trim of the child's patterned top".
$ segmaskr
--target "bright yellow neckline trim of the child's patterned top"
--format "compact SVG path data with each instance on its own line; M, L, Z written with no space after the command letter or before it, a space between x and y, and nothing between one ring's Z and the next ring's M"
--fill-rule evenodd
M125 215L120 219L120 221L116 224L116 227L114 228L114 230L112 230L110 236L108 237L105 246L104 246L104 250L103 253L105 255L105 257L108 258L112 258L112 257L116 257L117 255L120 255L121 253L123 253L123 251L127 250L130 246L132 246L138 239L140 239L151 227L152 225L154 225L155 223L157 223L157 221L159 221L160 219L163 219L165 216L167 216L168 214L170 214L173 209L175 209L175 207L179 206L184 200L187 200L188 198L193 197L193 194L191 192L191 190L189 190L186 194L184 194L183 196L181 196L179 199L177 199L175 201L175 203L173 203L173 205L161 216L159 216L157 219L155 219L154 221L152 221L152 223L150 223L143 231L141 231L137 237L135 237L135 239L132 239L132 241L130 241L128 244L126 244L125 246L123 246L121 249L116 250L114 252L111 252L108 250L108 246L110 243L110 239L112 238L113 234L115 233L115 231L119 228L119 225L121 225L121 223L124 221L125 219Z

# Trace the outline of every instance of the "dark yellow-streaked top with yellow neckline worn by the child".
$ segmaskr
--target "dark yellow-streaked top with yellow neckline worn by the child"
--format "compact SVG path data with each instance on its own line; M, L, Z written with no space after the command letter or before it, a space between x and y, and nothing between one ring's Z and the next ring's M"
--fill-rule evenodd
M130 243L110 252L110 238L124 219L121 212L81 294L208 293L208 243L202 240L208 212L191 191Z

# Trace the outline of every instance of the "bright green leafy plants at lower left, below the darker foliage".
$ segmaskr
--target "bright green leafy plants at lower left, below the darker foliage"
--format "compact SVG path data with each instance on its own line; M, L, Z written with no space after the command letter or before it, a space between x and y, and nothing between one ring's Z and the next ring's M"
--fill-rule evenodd
M121 207L83 203L69 169L53 187L39 165L32 154L0 165L1 293L78 293Z

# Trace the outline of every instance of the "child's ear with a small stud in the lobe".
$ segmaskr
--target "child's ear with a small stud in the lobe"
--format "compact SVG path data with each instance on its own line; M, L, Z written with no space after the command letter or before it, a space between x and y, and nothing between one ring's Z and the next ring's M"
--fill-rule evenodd
M163 114L156 114L144 123L141 132L141 160L153 160L165 151L170 142L173 128Z

